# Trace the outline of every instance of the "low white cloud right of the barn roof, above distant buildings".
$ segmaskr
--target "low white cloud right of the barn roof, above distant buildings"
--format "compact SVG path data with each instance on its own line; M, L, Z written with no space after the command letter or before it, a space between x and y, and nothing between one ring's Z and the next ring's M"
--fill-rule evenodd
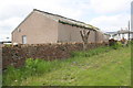
M102 15L94 18L90 23L99 26L103 32L119 31L121 28L127 28L129 14Z

